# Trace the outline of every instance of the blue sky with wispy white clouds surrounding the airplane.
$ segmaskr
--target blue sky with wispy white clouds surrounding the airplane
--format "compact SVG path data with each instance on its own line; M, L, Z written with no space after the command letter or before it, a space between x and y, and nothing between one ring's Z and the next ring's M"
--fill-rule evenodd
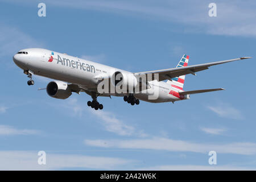
M38 3L46 3L46 17ZM0 169L255 169L255 59L188 75L184 89L225 88L191 100L131 106L120 97L56 100L48 78L13 63L22 48L65 52L131 72L255 57L255 2L0 1ZM47 164L37 164L38 151ZM217 152L217 165L208 152Z

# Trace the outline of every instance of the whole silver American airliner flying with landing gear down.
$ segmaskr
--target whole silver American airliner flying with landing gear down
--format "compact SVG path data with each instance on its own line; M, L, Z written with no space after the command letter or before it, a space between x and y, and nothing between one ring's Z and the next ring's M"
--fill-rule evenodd
M66 99L73 92L78 94L85 92L92 97L92 101L88 101L87 105L98 110L103 109L103 105L97 101L98 96L110 98L111 96L123 97L125 102L131 105L138 105L140 100L152 103L174 103L180 100L188 100L190 94L224 90L223 88L216 88L185 91L183 90L185 75L196 75L196 72L208 69L213 65L249 58L251 57L240 57L237 59L188 66L189 56L183 55L176 68L137 73L43 48L22 49L13 56L13 61L28 76L28 85L34 85L35 83L32 80L32 75L52 78L55 81L49 82L45 88L49 96ZM117 79L117 76L119 76L119 79ZM147 78L151 76L151 79L139 80L139 76L147 76ZM109 81L108 84L110 87L121 84L133 88L134 91L134 87L139 85L141 90L137 90L137 92L130 92L128 90L128 92L123 93L116 92L115 90L114 92L99 92L98 86L104 80ZM156 90L158 92L157 97L154 99L150 98Z

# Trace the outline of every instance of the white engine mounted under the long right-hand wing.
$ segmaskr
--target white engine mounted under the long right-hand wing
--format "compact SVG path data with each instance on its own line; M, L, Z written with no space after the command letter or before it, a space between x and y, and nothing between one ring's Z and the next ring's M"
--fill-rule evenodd
M137 78L133 75L133 73L125 73L120 71L113 73L111 82L114 86L123 85L127 88L135 88L135 86L138 84Z

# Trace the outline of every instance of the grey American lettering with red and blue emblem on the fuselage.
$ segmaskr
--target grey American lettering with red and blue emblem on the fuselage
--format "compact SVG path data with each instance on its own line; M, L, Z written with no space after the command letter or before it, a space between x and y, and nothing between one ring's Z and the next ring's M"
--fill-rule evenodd
M87 71L87 72L91 72L91 73L95 73L95 67L93 65L89 65L86 63L81 63L81 61L78 60L69 60L65 57L60 57L60 55L57 55L58 59L57 59L57 64L61 64L63 66L69 67L69 68L75 68L75 69L80 69L83 71ZM51 55L51 57L49 57L48 62L52 62L53 61L53 57Z

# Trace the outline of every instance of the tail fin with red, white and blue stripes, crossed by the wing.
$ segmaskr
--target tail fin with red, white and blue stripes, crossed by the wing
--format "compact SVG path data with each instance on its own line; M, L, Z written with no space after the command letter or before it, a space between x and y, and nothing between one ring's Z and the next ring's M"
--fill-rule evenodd
M179 64L177 64L176 68L187 67L188 59L189 59L189 56L183 55L183 57L179 61ZM171 84L172 88L179 91L179 90L183 90L184 81L185 81L185 75L182 75L179 77L172 78L172 81L168 80L167 84Z

